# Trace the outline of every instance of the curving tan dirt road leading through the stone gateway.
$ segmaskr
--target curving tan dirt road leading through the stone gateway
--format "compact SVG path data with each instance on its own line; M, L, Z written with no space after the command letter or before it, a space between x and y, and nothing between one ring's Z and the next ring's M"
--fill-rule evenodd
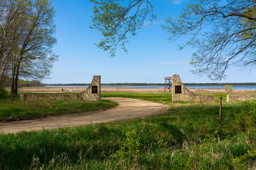
M168 107L159 103L145 100L108 97L102 98L117 102L116 108L105 111L84 112L67 116L54 116L42 119L0 123L0 133L16 133L22 130L56 129L58 127L72 127L90 125L101 122L114 122L119 120L153 115L165 111Z

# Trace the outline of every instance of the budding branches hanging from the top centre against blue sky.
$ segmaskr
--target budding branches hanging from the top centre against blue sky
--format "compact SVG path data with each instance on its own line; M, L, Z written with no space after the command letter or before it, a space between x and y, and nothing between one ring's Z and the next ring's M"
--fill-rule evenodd
M125 43L129 37L136 35L146 16L151 15L151 23L156 18L153 5L149 0L90 0L96 5L93 8L93 26L101 31L104 39L97 46L104 51L110 51L115 57L116 46L127 52Z

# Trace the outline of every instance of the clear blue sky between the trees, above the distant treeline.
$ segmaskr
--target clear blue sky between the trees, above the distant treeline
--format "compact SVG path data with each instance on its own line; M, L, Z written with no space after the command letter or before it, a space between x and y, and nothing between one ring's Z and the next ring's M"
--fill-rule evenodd
M147 82L164 83L164 77L179 74L183 82L213 82L206 76L192 74L189 65L195 49L178 50L185 40L168 42L168 34L160 28L166 17L176 17L188 0L151 0L158 15L152 26L145 25L127 43L128 54L121 49L116 57L108 57L94 43L102 39L101 33L92 26L93 3L89 0L52 0L56 10L55 24L58 44L53 51L59 55L51 79L44 83L90 83L93 75L101 75L102 83ZM227 71L227 79L221 82L256 82L256 71ZM249 74L249 75L248 75Z

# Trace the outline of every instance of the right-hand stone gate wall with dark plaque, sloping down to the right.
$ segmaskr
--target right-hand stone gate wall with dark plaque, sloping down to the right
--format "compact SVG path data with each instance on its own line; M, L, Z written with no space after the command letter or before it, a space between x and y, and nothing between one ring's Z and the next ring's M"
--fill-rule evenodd
M181 91L177 91L179 94L175 93L175 86L181 86ZM186 86L181 82L180 76L175 74L172 75L172 102L176 101L214 102L215 95L199 95L189 91L189 89L187 89Z

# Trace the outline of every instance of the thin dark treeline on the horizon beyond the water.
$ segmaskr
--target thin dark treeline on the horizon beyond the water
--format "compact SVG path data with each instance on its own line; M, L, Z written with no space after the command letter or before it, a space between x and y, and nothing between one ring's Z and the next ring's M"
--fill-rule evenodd
M44 85L52 85L52 86L81 86L81 85L90 85L89 83L70 83L70 84L44 84ZM145 86L145 85L162 85L164 86L165 83L102 83L101 85L106 86L121 86L121 85L138 85L138 86ZM225 85L233 85L233 86L255 86L256 82L239 82L239 83L184 83L184 85L216 85L216 86L225 86Z

